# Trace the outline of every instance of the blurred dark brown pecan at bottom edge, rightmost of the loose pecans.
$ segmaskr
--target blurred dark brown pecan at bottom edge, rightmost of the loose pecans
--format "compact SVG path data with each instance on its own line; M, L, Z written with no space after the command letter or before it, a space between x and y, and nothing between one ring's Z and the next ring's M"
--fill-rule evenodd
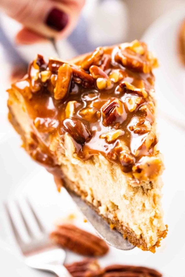
M162 277L155 269L134 265L109 265L104 271L103 277Z

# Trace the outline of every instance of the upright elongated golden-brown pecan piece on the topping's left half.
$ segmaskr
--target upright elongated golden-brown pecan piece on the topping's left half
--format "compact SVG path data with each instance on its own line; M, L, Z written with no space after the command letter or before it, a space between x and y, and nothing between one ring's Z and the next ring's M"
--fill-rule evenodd
M71 83L72 69L68 63L64 63L58 69L58 78L54 88L54 98L62 100L68 93Z

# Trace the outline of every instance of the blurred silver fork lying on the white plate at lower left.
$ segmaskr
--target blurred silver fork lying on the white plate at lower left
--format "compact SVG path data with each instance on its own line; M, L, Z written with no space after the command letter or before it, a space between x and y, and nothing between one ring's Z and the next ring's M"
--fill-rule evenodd
M20 231L18 231L18 228L16 227L15 219L10 212L8 204L4 204L12 231L14 233L14 237L24 256L25 263L29 267L35 269L53 272L58 277L72 277L63 265L66 258L66 252L49 241L48 233L40 222L40 219L34 211L31 203L28 199L26 199L26 202L40 231L40 237L34 234L27 218L21 209L21 206L18 202L16 202L18 212L25 227L25 231L29 237L29 242L25 242L21 237Z

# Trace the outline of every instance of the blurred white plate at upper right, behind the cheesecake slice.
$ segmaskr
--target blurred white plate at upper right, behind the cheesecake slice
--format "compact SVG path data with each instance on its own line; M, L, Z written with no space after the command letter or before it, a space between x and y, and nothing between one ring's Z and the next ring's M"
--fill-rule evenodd
M178 58L178 31L185 19L185 3L154 22L142 40L158 57L160 68L155 71L158 108L171 120L185 128L185 67Z

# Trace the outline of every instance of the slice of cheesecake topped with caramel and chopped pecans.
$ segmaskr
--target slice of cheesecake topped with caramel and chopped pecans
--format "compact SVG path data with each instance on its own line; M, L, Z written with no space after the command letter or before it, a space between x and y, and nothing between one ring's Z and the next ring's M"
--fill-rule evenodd
M10 122L58 188L73 190L132 244L151 252L167 233L156 66L137 40L71 61L45 62L38 55L8 90Z

